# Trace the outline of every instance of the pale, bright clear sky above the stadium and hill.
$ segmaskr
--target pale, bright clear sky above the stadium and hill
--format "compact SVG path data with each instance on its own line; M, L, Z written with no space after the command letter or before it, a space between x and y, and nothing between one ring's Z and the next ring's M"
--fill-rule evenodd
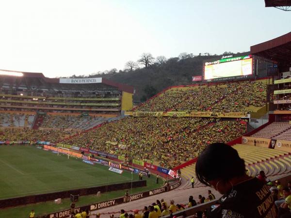
M144 52L222 54L291 31L264 0L0 0L0 69L90 75Z

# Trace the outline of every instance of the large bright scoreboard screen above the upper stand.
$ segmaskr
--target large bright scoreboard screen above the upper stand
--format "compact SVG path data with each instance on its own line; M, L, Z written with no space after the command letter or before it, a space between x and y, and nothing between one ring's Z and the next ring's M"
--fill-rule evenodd
M225 58L214 62L205 62L204 79L235 77L253 73L253 58L251 55Z

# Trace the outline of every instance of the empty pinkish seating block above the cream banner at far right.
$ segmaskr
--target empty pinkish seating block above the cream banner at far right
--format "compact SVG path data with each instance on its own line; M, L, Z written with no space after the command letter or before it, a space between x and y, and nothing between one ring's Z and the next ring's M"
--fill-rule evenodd
M259 130L259 132L252 135L253 137L272 139L275 136L283 133L291 128L291 124L287 122L274 122L267 125L265 128Z

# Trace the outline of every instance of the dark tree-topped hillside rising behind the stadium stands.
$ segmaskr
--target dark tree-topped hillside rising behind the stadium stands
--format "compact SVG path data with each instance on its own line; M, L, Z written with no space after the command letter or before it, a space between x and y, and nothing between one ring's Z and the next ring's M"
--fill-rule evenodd
M182 58L180 56L177 58L170 58L162 63L154 62L148 67L131 71L120 70L117 72L116 69L112 69L101 74L92 74L89 77L101 76L115 82L134 86L136 91L134 101L145 101L147 98L161 92L169 86L192 84L193 76L202 75L204 60L221 56L209 55L208 53L205 54L207 55L193 57L191 54L190 57L186 55L186 57ZM225 52L223 55L227 54L233 53ZM75 77L79 78L79 76Z

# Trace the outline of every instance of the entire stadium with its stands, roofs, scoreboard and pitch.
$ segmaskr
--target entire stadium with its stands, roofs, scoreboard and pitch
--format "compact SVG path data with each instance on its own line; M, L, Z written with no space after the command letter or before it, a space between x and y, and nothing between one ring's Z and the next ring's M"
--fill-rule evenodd
M208 187L196 171L215 142L282 197L291 188L291 32L206 60L192 81L133 106L134 87L107 78L0 70L1 217L139 218L160 203L159 217L202 218L223 196L222 182ZM267 207L262 217L275 218Z

